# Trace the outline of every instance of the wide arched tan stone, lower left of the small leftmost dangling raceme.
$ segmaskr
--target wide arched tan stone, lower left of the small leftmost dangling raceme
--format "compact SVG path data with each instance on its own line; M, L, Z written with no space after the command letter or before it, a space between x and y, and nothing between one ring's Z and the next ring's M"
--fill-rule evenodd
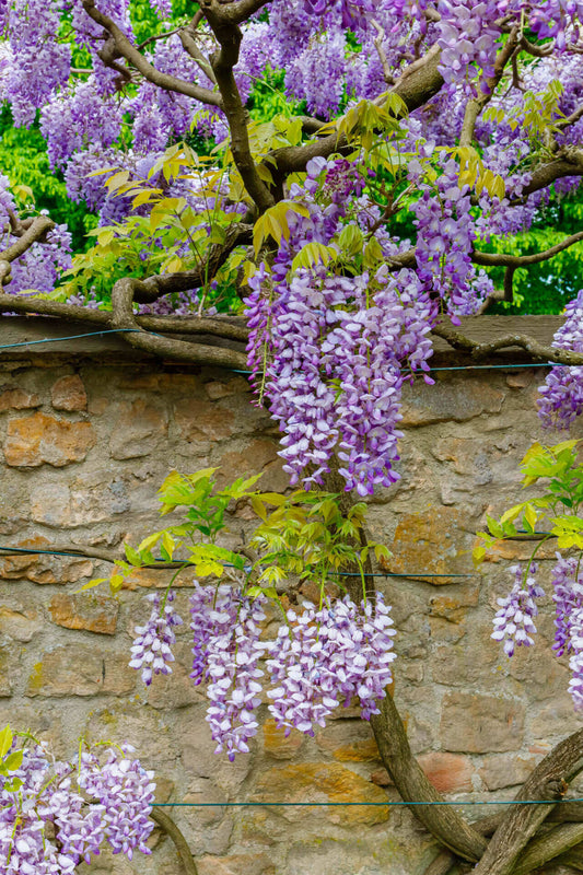
M56 648L43 655L28 678L26 696L121 696L136 687L128 654L100 654L86 644Z

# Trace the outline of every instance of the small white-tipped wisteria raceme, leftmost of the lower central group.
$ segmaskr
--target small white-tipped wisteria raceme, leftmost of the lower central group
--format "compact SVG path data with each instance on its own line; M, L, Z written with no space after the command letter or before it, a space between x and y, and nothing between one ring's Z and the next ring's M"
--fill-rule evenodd
M176 594L168 590L163 597L160 593L147 596L152 603L152 612L145 626L137 626L137 638L131 646L130 668L141 670L142 680L150 686L154 675L171 675L174 662L172 645L176 643L175 626L183 619L174 608Z

